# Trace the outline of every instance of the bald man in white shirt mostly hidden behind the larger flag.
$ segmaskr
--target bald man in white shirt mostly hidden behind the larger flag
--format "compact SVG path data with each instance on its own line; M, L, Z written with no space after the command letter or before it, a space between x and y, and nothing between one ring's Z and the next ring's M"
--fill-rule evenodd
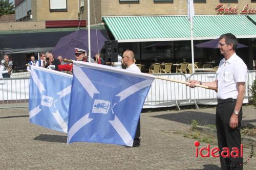
M132 51L125 51L123 53L123 63L127 66L126 69L130 71L140 72L139 67L135 64L134 53ZM134 136L133 147L140 146L140 118Z

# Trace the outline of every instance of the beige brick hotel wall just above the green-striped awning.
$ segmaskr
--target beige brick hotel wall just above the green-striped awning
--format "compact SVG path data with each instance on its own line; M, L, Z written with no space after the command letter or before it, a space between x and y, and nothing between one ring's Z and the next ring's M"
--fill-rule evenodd
M95 4L93 4L93 2ZM217 15L215 7L223 4L226 8L236 7L238 13L248 4L249 8L256 8L256 3L251 0L240 0L239 3L220 3L220 1L206 1L206 3L194 3L196 15ZM90 1L91 24L101 22L102 16L136 16L136 15L187 15L187 3L184 0L173 0L173 3L154 3L153 0L140 0L139 3L120 3L119 0L95 0ZM96 15L93 7L95 6ZM255 14L255 13L254 13ZM84 1L84 12L81 18L87 18L87 1Z

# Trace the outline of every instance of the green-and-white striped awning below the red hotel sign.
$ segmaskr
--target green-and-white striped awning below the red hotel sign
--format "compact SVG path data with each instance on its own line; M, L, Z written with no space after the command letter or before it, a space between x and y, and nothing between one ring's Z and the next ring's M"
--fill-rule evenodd
M118 42L190 40L187 16L103 17ZM256 26L245 15L194 17L194 40L215 39L232 33L237 38L255 38Z

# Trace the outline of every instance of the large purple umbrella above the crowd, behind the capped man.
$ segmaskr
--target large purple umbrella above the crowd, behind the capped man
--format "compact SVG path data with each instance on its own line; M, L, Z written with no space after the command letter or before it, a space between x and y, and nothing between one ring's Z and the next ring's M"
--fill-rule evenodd
M91 57L100 52L106 40L109 40L109 36L105 30L91 30ZM55 58L75 59L75 48L88 51L88 30L78 30L60 38L52 53Z

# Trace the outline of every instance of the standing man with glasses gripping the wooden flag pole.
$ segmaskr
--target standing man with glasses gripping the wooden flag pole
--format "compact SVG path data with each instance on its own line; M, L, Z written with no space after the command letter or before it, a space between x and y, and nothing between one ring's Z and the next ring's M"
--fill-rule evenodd
M245 81L247 66L237 56L237 38L233 34L223 34L219 38L219 49L225 57L220 61L217 77L214 82L200 82L190 80L188 86L194 88L195 84L202 84L218 88L218 105L216 108L216 129L220 153L223 148L238 148L241 144L242 105L245 94ZM243 158L220 156L221 169L243 169Z

